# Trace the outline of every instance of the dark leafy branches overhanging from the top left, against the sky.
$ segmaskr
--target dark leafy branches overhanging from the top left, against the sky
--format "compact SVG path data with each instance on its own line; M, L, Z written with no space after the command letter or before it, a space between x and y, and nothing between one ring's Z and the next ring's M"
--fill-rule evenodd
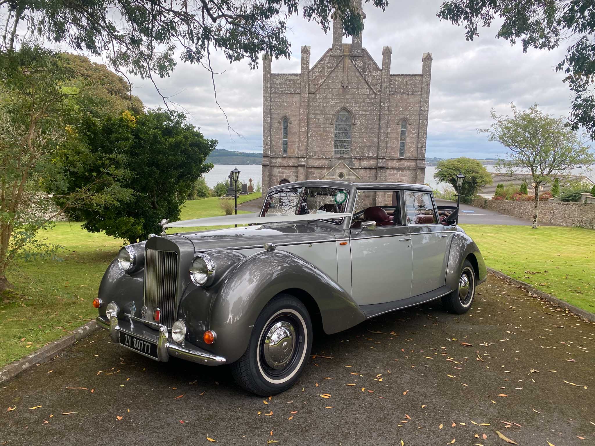
M382 10L388 5L387 0L371 3ZM331 14L342 20L347 36L359 34L364 27L352 0L312 0L301 11L297 0L4 0L0 26L5 51L15 48L19 32L26 32L77 52L106 56L117 71L127 68L155 83L155 77L166 77L174 70L176 55L209 70L215 49L230 62L248 59L250 68L258 66L263 52L289 58L287 20L300 12L325 32Z

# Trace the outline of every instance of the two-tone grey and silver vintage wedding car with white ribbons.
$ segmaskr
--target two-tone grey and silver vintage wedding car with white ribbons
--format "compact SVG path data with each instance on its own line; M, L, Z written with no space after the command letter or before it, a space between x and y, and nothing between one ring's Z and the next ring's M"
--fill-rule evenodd
M151 359L230 364L246 390L275 394L302 372L313 327L336 333L438 298L466 312L486 266L457 213L419 184L275 186L260 213L166 225L239 227L123 247L97 321Z

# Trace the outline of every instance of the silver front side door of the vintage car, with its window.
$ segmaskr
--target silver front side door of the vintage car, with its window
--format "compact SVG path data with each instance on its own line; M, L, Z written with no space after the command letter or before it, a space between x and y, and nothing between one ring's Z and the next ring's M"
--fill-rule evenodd
M412 245L409 228L402 224L400 191L358 191L355 215L375 207L393 212L392 224L378 219L375 230L362 231L361 219L349 230L351 295L359 305L406 299L411 291Z

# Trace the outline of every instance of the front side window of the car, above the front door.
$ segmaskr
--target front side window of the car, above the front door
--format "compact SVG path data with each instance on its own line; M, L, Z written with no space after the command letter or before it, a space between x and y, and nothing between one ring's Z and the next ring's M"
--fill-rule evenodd
M375 221L378 227L400 225L399 192L358 190L353 208L352 228L364 221Z

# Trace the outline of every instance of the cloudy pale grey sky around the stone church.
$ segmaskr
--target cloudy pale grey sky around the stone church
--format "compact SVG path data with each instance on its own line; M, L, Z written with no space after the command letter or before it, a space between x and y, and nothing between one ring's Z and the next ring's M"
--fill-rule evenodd
M490 109L508 114L509 103L520 108L538 103L555 115L567 116L570 93L555 65L565 48L556 51L529 50L494 38L498 27L480 30L480 37L467 42L464 29L436 17L440 1L392 1L385 12L364 4L367 14L364 46L381 65L382 47L392 46L391 73L421 73L424 52L433 54L430 122L427 156L494 158L505 149L487 141L477 128L490 125ZM496 22L496 25L498 22ZM289 21L291 59L273 61L273 73L299 73L300 46L311 46L311 65L331 45L331 33L302 18ZM218 99L231 126L214 102L209 73L202 67L180 63L171 78L158 81L164 95L190 114L193 124L206 137L219 140L219 147L241 151L262 150L262 71L248 64L229 64L223 55L212 58ZM162 104L149 81L131 77L134 94L147 106Z

